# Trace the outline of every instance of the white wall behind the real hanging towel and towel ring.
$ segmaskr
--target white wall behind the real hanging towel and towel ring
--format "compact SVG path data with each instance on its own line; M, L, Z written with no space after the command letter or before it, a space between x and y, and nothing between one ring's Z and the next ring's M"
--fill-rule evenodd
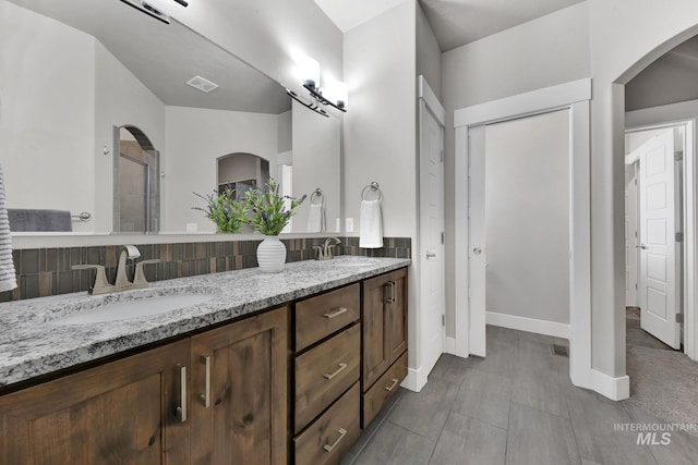
M383 192L385 236L417 236L417 51L413 0L345 34L349 109L344 126L345 216L358 235L361 189ZM421 366L418 338L418 269L409 274L409 366Z

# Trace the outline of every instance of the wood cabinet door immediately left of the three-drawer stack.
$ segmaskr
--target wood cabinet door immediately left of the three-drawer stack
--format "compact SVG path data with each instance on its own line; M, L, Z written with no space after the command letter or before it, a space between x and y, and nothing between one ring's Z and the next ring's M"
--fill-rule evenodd
M287 462L288 311L192 338L192 463Z

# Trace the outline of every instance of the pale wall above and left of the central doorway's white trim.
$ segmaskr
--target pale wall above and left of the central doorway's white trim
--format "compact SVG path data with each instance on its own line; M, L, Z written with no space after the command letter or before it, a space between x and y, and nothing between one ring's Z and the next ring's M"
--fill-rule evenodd
M446 335L454 335L454 110L591 75L588 5L574 7L453 49L442 57L446 108Z

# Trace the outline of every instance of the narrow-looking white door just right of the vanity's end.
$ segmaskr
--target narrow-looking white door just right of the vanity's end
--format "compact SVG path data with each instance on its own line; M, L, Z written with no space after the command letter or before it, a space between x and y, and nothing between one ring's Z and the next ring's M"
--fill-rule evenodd
M430 372L444 347L444 162L443 126L420 101L420 254L421 308L423 325L422 369Z

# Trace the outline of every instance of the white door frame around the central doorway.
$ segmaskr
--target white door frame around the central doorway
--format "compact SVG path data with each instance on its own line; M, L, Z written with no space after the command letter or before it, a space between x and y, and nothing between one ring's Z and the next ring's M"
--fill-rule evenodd
M591 78L519 94L454 112L456 144L455 336L456 355L485 353L485 313L468 302L468 131L470 127L569 109L569 376L575 386L593 389L591 370ZM481 314L481 315L480 315Z

